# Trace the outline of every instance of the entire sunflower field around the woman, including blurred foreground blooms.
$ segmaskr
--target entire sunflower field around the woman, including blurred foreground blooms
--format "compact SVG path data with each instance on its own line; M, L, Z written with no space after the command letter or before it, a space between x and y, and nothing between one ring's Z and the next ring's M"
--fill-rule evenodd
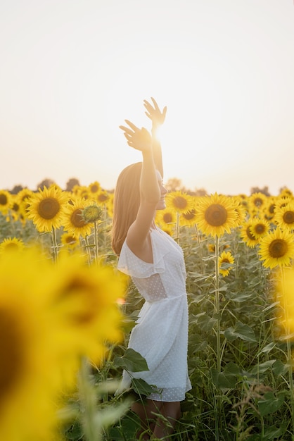
M175 441L294 440L294 197L167 194L184 251L188 370ZM134 441L154 385L127 349L143 304L116 270L98 182L0 190L0 440Z

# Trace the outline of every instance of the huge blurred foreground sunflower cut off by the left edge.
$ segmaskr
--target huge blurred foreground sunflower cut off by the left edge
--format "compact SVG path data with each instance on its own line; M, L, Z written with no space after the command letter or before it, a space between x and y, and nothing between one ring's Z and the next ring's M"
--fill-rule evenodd
M58 367L51 341L39 254L1 254L0 266L0 439L53 439ZM18 275L15 278L15 273ZM32 415L34 418L32 419Z

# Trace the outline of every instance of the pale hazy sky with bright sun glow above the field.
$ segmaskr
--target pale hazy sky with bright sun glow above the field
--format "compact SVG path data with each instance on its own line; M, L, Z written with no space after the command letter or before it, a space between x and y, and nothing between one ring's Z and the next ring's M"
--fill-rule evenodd
M294 192L293 0L4 0L0 60L2 190L112 190L154 97L165 181Z

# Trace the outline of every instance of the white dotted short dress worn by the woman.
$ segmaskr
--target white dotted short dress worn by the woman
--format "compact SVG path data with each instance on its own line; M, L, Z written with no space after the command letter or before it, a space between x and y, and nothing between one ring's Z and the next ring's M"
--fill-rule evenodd
M142 378L157 391L148 398L162 402L185 399L188 378L188 304L181 247L164 231L151 229L153 263L137 257L124 242L117 268L131 276L146 300L129 338L129 348L146 359L149 371L122 374L121 389ZM131 375L131 376L130 376Z

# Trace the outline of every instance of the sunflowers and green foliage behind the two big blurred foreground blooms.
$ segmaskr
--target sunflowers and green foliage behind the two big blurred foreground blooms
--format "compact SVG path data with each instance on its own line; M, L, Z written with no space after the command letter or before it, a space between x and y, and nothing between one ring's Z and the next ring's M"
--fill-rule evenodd
M113 195L94 184L76 183L67 192L51 185L26 197L23 190L0 192L0 263L9 247L20 253L38 243L57 264L64 253L78 251L89 266L115 268ZM181 403L172 440L294 439L293 305L282 297L285 287L291 293L294 287L292 273L284 284L294 256L293 194L288 189L278 197L265 193L222 199L178 187L170 192L165 212L158 213L160 227L184 250L187 271L192 389ZM68 207L63 211L65 195L78 218ZM146 368L140 354L127 350L142 304L128 280L120 306L123 340L108 342L102 363L82 362L77 390L66 392L58 413L56 439L134 441L139 421L130 403L148 395L152 385L134 380L132 390L115 391L123 368Z

